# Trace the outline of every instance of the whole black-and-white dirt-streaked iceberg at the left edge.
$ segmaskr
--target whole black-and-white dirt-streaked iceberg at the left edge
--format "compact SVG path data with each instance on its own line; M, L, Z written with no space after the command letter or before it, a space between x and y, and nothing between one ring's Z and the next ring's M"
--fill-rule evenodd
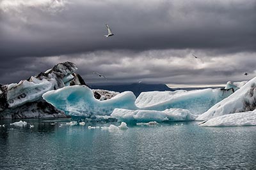
M76 64L63 62L28 80L0 85L0 118L67 117L45 102L42 95L67 85L85 85L83 78L74 73L76 70Z

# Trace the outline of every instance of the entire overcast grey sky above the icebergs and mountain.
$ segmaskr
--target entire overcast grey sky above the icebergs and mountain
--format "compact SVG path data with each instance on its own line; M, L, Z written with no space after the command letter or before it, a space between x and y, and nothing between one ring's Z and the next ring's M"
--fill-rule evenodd
M88 84L250 80L256 0L0 0L0 59L0 83L67 60Z

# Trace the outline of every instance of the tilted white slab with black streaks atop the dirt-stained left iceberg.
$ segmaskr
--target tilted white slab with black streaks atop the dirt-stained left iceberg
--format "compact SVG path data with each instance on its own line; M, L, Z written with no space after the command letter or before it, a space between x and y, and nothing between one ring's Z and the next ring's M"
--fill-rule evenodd
M37 101L49 90L59 89L72 81L77 67L72 62L57 64L48 73L31 76L29 80L12 83L7 87L6 101L10 108Z

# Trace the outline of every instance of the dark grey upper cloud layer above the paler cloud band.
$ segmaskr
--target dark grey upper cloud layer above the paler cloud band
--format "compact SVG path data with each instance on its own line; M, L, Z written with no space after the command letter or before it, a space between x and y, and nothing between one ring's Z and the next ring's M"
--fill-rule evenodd
M54 3L2 4L1 57L109 49L256 49L256 1L61 2L61 10L51 7ZM111 39L103 36L105 23L115 34Z

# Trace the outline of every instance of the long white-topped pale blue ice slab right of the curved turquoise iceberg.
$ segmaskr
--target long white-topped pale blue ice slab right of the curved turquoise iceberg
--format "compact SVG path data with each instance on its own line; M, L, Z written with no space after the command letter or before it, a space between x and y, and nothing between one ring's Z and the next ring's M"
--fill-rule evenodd
M174 92L142 92L136 99L141 110L163 111L168 108L181 108L199 115L211 106L232 94L232 89L176 90Z

